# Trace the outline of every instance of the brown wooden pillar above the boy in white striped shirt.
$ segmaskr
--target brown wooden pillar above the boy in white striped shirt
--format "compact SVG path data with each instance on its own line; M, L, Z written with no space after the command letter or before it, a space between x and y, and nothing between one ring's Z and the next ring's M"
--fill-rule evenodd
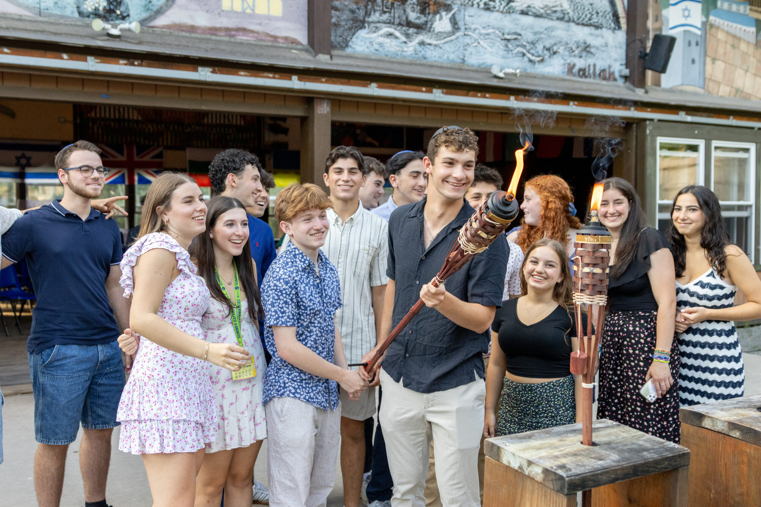
M327 191L323 174L330 154L330 99L307 100L308 115L301 119L301 182Z

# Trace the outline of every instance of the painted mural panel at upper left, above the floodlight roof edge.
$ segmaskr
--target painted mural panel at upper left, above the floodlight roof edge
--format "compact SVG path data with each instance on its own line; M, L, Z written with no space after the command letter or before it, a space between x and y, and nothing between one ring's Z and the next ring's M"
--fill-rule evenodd
M307 43L307 0L0 0L0 14L139 21L142 27Z

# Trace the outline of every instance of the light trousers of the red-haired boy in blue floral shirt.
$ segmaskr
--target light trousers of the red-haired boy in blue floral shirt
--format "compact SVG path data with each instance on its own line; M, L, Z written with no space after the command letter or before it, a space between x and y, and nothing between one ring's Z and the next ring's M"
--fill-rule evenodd
M336 482L341 406L323 410L296 398L272 398L267 418L271 507L325 507Z

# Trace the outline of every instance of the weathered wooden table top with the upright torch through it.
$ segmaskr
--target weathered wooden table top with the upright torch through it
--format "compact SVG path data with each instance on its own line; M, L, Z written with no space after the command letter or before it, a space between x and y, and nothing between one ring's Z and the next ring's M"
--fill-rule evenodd
M689 466L689 449L611 420L592 424L596 445L581 445L581 423L486 439L489 458L565 495Z

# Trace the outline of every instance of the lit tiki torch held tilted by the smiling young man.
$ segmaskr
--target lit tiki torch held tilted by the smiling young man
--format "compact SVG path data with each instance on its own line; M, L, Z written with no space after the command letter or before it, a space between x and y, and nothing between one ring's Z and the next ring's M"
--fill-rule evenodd
M456 271L466 265L473 257L483 252L492 242L498 238L501 233L515 220L518 214L518 204L515 201L515 194L518 188L518 182L521 179L521 173L524 166L524 154L531 146L529 141L525 141L524 147L515 151L515 172L511 179L508 192L493 192L482 206L476 210L473 217L460 229L460 235L454 242L452 248L444 260L441 271L431 280L434 287L438 287L451 277ZM384 340L378 350L375 351L373 358L368 361L365 369L370 371L380 357L386 353L391 342L405 328L409 321L418 314L425 303L418 299L415 306L407 312L407 315L393 328L391 334Z

